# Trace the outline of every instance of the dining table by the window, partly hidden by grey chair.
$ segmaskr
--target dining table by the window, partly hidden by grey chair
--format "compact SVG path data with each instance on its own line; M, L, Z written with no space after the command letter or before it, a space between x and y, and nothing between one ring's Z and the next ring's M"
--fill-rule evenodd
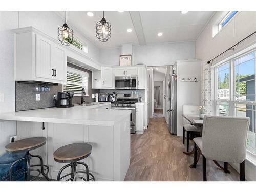
M201 130L200 135L201 135L201 137L202 137L204 120L203 120L202 118L200 118L199 115L185 115L185 114L183 114L182 116L183 116L191 125L194 125L194 126L196 126L197 128L199 128L199 129ZM199 158L200 158L202 152L201 152L201 150L200 150L199 148L198 148L197 150L198 150L198 153L197 153L197 154L198 154L198 155L197 155L197 163L198 163ZM186 154L186 155L192 155L192 154L195 153L195 148L193 148L193 150L190 151L190 152L183 152L183 153ZM215 160L212 160L212 161L213 161L220 169L222 169L222 170L224 171L224 167L221 166L221 165L218 163L218 161L215 161ZM189 167L190 167L190 168L194 168L194 163L192 163ZM227 173L230 173L230 171L228 170Z

